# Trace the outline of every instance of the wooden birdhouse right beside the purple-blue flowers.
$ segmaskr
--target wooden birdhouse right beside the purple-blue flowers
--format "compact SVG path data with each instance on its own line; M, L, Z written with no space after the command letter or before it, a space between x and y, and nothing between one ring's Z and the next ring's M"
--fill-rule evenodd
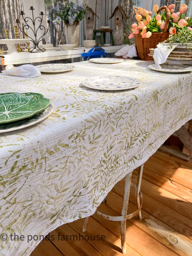
M93 30L95 28L94 16L97 16L96 13L90 7L88 7L88 12L85 13L86 40L93 40Z

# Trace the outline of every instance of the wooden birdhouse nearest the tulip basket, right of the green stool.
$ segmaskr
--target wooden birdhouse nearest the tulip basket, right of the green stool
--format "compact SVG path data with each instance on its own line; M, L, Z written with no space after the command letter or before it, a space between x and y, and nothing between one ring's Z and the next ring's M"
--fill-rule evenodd
M127 20L127 16L121 6L117 6L109 19L114 16L114 44L123 44L123 19Z

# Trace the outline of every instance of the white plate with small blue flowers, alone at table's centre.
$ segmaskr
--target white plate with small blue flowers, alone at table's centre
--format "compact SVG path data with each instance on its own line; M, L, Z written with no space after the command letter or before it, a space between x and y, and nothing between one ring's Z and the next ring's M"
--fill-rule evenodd
M83 86L96 90L128 90L138 87L141 82L131 77L106 76L92 77L81 82Z

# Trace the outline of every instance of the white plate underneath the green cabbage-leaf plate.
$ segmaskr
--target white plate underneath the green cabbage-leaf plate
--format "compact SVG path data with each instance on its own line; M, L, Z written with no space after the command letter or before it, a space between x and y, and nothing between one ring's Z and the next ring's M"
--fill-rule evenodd
M26 119L22 119L20 121L7 123L7 124L0 124L0 133L7 133L19 129L23 129L26 127L29 127L31 125L34 125L36 123L39 123L46 119L49 115L53 113L54 105L53 103L50 103L49 106L43 110L42 112Z

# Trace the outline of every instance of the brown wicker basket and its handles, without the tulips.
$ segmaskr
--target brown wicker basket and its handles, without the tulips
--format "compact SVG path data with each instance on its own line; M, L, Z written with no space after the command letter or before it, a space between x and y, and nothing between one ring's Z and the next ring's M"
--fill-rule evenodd
M170 10L168 7L161 7L157 13L159 13L162 9L166 9L166 24L164 28L164 32L154 32L149 38L142 38L141 34L135 34L135 45L137 48L137 53L139 57L143 60L153 60L153 57L149 56L150 48L156 48L157 44L167 40L169 38L169 33L167 32L170 20ZM135 14L140 14L143 16L144 9L141 7L134 8Z

